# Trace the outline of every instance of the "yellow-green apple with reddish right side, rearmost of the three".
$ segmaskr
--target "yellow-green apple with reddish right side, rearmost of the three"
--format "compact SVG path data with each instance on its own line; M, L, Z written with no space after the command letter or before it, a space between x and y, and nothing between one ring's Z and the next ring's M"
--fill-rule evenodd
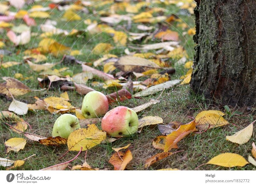
M97 118L108 112L108 98L98 91L92 91L84 96L81 108L85 118Z

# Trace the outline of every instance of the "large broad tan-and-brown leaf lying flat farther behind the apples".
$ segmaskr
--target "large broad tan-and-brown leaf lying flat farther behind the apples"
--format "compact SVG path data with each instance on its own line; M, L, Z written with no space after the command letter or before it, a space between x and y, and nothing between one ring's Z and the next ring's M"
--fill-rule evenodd
M150 69L162 68L148 59L134 56L120 57L120 59L115 63L115 67L124 72L144 72Z

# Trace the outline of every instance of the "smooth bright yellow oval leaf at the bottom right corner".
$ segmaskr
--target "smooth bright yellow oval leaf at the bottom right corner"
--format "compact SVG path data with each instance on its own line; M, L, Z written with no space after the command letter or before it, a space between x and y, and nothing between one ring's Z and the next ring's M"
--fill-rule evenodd
M219 165L222 167L236 167L240 166L243 167L246 164L248 164L242 156L235 153L223 153L218 156L215 156L210 161L208 161L206 164L213 164L213 165Z

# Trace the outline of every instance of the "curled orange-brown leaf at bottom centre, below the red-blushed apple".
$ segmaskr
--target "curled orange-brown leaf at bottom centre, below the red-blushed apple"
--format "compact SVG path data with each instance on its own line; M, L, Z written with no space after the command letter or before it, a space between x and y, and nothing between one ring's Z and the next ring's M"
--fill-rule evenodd
M126 165L132 160L132 153L128 149L114 153L108 161L114 166L114 170L124 170Z

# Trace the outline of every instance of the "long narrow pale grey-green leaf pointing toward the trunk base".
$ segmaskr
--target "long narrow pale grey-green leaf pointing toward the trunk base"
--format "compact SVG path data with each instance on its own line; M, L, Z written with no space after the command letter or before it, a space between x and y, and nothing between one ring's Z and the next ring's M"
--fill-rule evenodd
M180 79L175 79L175 80L167 81L155 86L151 86L146 90L133 94L133 97L148 96L148 95L163 91L165 89L171 88L176 84L178 84L179 82L180 82Z

